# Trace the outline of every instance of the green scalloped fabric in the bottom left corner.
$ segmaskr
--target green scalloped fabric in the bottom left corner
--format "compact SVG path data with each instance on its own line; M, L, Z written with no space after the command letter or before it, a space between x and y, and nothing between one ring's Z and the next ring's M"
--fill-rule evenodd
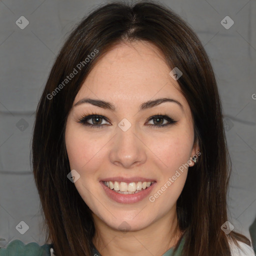
M54 256L51 244L39 245L36 242L24 244L20 240L10 241L6 248L0 248L0 256Z

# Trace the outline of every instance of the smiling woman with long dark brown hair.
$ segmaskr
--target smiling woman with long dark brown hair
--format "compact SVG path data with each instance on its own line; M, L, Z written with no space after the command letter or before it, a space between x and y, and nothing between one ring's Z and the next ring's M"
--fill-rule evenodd
M254 255L227 222L212 67L164 6L106 4L78 24L38 104L32 153L56 255Z

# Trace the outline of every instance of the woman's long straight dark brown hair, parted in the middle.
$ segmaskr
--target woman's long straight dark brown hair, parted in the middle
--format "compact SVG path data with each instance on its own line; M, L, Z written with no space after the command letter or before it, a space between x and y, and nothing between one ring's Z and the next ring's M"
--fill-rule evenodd
M178 67L182 71L177 82L191 109L194 138L201 152L197 163L189 167L176 204L178 225L186 238L182 255L230 256L228 239L236 245L236 240L249 245L250 241L234 231L226 235L220 228L228 219L231 163L214 73L191 28L166 6L149 1L99 6L71 31L55 59L37 106L32 139L33 173L46 239L52 241L58 256L91 253L95 232L91 211L66 177L70 169L65 123L96 61L118 43L135 40L154 44L170 70ZM67 78L71 73L75 75Z

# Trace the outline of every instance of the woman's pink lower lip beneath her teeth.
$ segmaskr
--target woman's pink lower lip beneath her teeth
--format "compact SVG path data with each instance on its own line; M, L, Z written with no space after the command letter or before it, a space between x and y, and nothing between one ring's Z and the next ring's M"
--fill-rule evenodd
M120 193L116 193L112 189L108 188L103 183L103 181L100 181L99 183L102 185L102 187L108 197L110 197L111 199L113 199L116 202L121 202L121 203L134 203L134 202L138 202L138 201L144 199L151 192L154 185L156 184L156 182L154 182L146 189L141 189L140 192L137 192L134 194L120 194Z

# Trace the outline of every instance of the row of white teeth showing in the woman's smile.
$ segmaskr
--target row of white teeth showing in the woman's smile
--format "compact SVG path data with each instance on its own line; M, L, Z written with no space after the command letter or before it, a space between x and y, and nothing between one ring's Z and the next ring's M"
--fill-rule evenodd
M118 181L103 181L104 185L120 194L134 194L145 190L155 181L138 181L138 182L118 182Z

